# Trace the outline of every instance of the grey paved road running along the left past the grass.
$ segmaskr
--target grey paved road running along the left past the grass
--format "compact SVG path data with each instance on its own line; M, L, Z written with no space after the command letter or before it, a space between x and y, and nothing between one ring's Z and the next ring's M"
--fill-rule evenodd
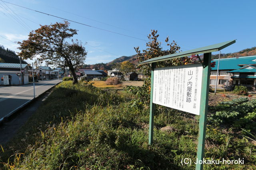
M35 83L36 96L50 89L57 84L58 81L61 80L44 80ZM31 100L33 97L33 83L24 86L0 87L0 120L8 115L8 113Z

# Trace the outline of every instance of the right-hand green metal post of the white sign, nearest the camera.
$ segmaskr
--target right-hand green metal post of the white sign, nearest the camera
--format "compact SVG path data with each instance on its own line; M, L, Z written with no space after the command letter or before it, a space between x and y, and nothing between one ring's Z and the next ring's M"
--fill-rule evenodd
M203 77L202 77L202 91L200 103L200 119L199 119L199 133L198 133L198 147L197 159L203 160L204 158L204 142L206 134L206 118L208 114L208 96L209 96L209 81L211 70L211 57L212 53L204 53ZM196 170L202 170L203 164L196 164Z

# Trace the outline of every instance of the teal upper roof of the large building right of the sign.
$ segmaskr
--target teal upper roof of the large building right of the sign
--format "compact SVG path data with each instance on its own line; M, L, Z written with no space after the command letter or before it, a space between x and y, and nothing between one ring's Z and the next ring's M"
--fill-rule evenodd
M238 64L256 64L256 56L248 56L248 57L236 57L236 58L227 58L220 59L219 70L236 70L242 68L238 66ZM212 67L212 70L217 70L218 68L218 59L212 60L212 62L216 62L215 67Z

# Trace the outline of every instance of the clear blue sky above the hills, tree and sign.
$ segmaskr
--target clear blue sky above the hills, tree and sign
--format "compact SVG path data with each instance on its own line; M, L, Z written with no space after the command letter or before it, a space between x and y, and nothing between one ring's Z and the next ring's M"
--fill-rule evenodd
M121 56L136 54L134 47L146 48L151 29L158 30L160 41L168 35L182 51L237 39L222 50L232 53L256 46L256 1L238 0L6 0L20 6L78 21L139 39L70 23L78 29L74 36L85 45L86 64L107 63ZM6 6L7 5L7 6ZM8 11L6 9L8 9ZM12 9L18 16L12 13ZM11 15L15 15L24 28ZM0 0L0 35L11 41L27 39L31 30L63 20L3 3ZM18 51L18 45L0 37L5 48ZM163 45L166 48L165 45ZM218 53L218 52L216 52Z

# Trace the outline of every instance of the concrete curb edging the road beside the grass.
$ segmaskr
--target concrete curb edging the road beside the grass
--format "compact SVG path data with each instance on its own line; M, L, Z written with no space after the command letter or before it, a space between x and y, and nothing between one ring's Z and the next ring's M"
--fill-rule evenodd
M50 91L52 88L54 88L55 86L57 86L58 84L60 84L61 82L58 82L57 84L55 84L54 86L52 86L51 88L49 88L48 90L42 92L41 94L39 94L38 96L36 96L35 98L29 100L28 102L22 104L20 107L14 109L13 111L11 111L10 113L8 113L6 116L2 117L0 119L0 126L2 124L4 124L5 122L10 121L13 117L15 117L17 115L17 113L19 111L22 111L23 109L26 109L27 106L29 106L33 101L36 101L39 97L41 97L42 95L44 95L46 92Z

